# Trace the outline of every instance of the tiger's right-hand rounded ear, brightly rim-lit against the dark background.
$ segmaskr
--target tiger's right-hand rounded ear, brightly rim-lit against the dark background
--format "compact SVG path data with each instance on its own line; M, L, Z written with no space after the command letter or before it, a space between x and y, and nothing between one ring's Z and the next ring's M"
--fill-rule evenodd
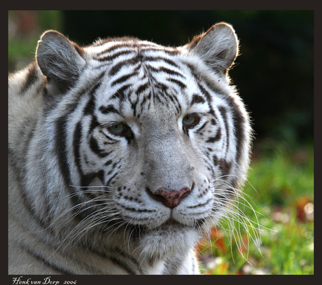
M238 55L238 39L232 26L222 22L196 36L188 48L211 69L226 75Z

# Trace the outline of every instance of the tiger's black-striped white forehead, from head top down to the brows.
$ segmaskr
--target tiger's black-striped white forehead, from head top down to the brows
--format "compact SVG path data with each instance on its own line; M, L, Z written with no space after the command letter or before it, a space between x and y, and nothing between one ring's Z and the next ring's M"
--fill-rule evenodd
M97 98L100 115L181 114L191 104L206 102L176 48L132 40L103 42L99 48L96 60L104 62L106 74Z

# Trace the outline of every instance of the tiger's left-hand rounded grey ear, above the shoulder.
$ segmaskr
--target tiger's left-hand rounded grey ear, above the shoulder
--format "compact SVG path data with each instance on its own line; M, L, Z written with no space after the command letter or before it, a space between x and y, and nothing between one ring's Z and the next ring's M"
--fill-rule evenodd
M43 75L47 76L48 85L65 92L77 81L85 65L81 54L81 48L65 36L48 31L38 41L36 60Z

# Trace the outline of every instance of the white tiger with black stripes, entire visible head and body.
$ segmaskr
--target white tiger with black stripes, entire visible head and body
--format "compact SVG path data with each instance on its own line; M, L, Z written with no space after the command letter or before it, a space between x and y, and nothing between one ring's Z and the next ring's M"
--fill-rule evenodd
M180 47L45 32L8 77L9 274L199 274L249 164L238 50L225 23Z

